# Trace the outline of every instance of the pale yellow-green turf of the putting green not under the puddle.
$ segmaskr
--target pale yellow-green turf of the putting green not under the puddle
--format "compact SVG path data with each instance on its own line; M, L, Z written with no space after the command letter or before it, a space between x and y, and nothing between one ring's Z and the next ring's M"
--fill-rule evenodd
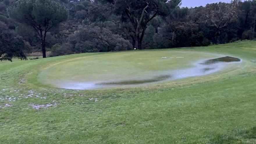
M158 81L166 70L192 67L195 61L220 55L193 51L127 51L85 56L42 69L39 81L52 86L65 82L140 84ZM166 58L162 58L166 57ZM171 58L170 58L171 57Z

